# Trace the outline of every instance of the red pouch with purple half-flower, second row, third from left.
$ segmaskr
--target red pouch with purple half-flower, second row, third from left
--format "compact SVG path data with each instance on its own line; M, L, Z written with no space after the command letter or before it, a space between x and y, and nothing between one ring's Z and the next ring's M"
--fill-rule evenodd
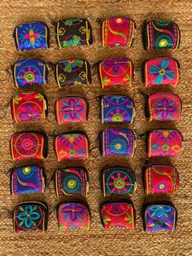
M98 77L103 89L110 86L132 86L133 62L127 58L113 58L98 64Z

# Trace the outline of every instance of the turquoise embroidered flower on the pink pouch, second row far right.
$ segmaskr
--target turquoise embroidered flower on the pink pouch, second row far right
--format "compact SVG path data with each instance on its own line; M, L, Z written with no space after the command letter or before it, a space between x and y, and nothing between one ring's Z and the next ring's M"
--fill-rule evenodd
M155 84L160 85L165 79L173 80L175 72L169 71L170 67L168 60L162 60L161 64L154 66L151 65L150 73L155 75Z

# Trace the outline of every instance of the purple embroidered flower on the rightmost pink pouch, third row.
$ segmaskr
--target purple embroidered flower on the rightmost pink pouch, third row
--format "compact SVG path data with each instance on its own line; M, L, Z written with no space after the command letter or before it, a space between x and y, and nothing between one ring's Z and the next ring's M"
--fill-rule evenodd
M165 120L170 117L171 119L174 119L172 113L177 113L177 108L172 106L175 104L173 100L168 102L168 99L164 98L161 101L157 100L156 104L157 106L155 107L155 112L158 113L156 116L157 118L161 117L163 120Z

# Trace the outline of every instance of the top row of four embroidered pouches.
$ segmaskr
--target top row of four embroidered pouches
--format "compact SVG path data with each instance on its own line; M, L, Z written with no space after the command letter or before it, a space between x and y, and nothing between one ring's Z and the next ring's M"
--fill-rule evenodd
M136 24L127 17L98 19L101 24L102 46L126 46L133 44ZM93 43L92 28L88 20L73 18L59 20L55 24L55 37L59 48L83 46ZM143 27L143 46L146 51L153 49L176 50L180 44L180 30L171 20L151 20ZM17 51L48 48L50 29L43 22L20 24L13 33Z

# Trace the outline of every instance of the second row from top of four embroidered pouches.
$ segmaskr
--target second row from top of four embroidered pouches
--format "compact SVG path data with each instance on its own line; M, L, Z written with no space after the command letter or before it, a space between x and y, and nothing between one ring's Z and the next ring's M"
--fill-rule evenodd
M57 64L46 63L39 59L17 60L11 66L15 86L27 87L48 83L48 70L55 69L55 81L60 88L79 86L92 82L91 67L87 60L68 59ZM127 58L107 59L94 64L98 69L99 81L103 88L110 86L132 86L134 67ZM151 58L142 65L142 77L145 86L172 85L179 82L180 64L167 57Z

